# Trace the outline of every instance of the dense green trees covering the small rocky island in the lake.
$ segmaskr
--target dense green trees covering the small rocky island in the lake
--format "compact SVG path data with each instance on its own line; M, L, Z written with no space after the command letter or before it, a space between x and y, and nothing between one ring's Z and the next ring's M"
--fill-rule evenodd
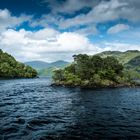
M101 58L86 54L74 55L74 62L54 71L56 85L107 87L131 85L131 78L114 57Z

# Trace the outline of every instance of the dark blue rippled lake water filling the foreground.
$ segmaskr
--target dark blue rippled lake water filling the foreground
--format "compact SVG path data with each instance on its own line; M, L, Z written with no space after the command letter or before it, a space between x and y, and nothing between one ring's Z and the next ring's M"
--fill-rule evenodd
M0 81L0 140L140 139L140 88L49 85Z

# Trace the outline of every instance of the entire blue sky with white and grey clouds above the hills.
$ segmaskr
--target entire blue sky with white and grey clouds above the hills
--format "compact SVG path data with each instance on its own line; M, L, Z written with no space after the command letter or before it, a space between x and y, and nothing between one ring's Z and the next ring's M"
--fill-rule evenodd
M0 49L18 61L140 50L140 0L0 0Z

